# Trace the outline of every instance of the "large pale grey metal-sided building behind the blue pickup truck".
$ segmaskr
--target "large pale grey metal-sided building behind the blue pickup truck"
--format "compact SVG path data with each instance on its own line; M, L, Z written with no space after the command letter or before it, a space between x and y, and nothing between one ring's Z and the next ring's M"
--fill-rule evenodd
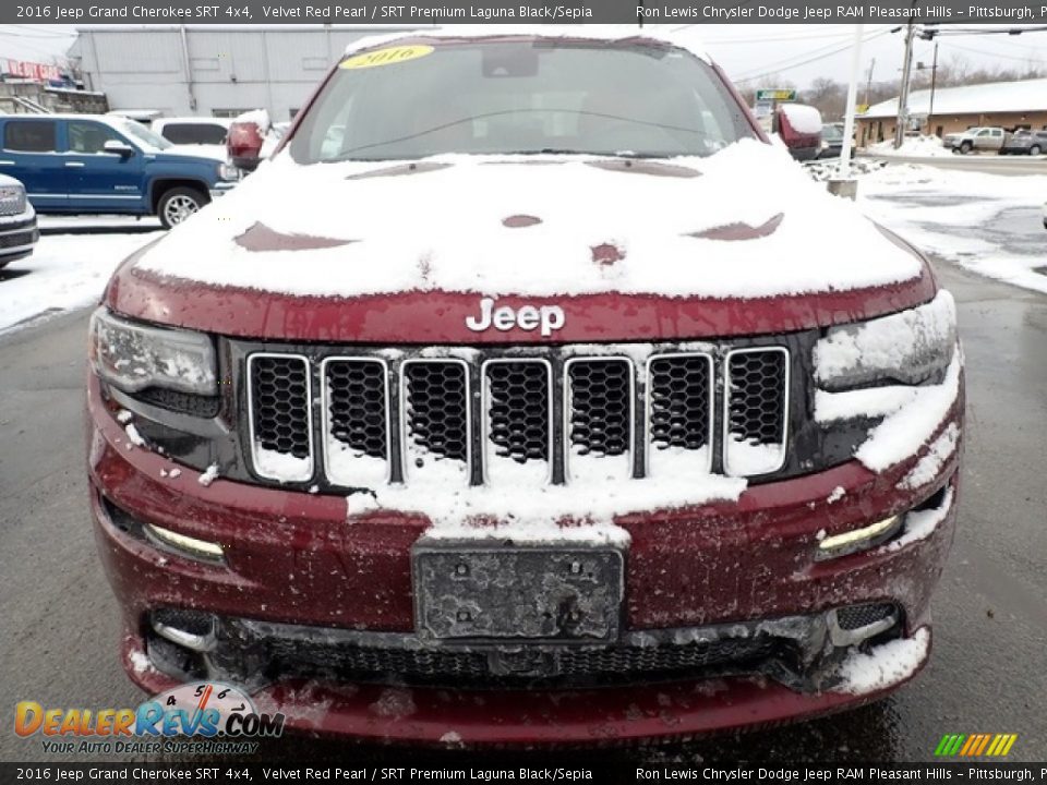
M294 117L347 45L374 32L371 25L84 26L69 58L110 109L166 117L267 109L282 121Z

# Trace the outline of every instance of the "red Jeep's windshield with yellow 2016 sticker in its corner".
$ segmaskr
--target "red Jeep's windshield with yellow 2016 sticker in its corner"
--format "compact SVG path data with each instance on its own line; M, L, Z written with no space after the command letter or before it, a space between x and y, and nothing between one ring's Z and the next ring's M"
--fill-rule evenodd
M754 132L720 77L681 49L502 38L344 60L290 152L303 164L443 153L707 156L743 136Z

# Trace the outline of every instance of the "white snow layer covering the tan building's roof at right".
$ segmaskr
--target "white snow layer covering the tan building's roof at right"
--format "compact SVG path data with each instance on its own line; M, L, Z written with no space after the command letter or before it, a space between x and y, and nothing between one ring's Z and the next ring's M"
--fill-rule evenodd
M927 114L930 90L916 90L908 96L911 114ZM1022 82L988 82L963 87L939 87L935 90L935 114L980 114L989 112L1047 111L1047 78ZM861 117L881 118L898 114L898 98L875 104Z

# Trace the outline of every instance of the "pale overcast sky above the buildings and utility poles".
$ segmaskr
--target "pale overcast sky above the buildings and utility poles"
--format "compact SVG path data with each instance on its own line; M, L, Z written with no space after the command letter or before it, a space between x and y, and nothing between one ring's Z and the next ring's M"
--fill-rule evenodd
M1019 25L1020 26L1020 25ZM696 25L709 52L739 86L755 84L768 73L781 74L799 87L818 76L844 81L851 67L854 25L831 24L717 24ZM893 25L866 25L862 46L864 84L870 64L874 81L898 80L901 74L901 32ZM50 62L62 55L75 33L69 25L0 25L0 57ZM914 61L930 67L934 44L917 39ZM939 62L960 57L975 65L1020 67L1047 63L1047 33L964 35L941 39ZM862 100L862 94L858 94Z

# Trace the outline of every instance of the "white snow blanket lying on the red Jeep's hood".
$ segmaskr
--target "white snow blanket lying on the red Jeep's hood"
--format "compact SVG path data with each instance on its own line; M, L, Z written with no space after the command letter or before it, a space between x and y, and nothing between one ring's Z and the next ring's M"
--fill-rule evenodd
M580 156L430 160L446 166L300 166L285 152L176 227L137 269L337 298L412 290L760 298L886 286L922 273L854 205L826 193L786 152L754 140L673 160L677 174L699 177ZM504 224L519 215L540 222ZM762 237L696 237L779 216ZM256 225L324 242L273 251L237 242ZM593 249L606 244L619 258L597 264Z

